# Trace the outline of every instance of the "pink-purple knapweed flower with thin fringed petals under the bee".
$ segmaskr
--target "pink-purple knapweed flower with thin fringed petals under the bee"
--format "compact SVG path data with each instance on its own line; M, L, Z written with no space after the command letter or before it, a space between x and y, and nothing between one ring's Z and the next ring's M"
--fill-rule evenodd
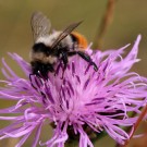
M147 99L147 78L130 72L132 65L139 61L139 40L140 36L125 57L122 54L128 45L103 52L88 48L98 72L75 56L70 60L63 78L62 68L57 70L56 75L49 73L48 79L30 75L29 63L16 53L10 53L26 78L16 75L2 60L2 73L7 79L1 81L5 86L0 88L0 98L16 103L0 110L0 120L11 122L0 130L0 139L22 137L16 145L21 147L36 131L33 147L64 147L71 134L78 136L79 147L94 147L88 127L97 134L107 132L115 142L124 144L131 134L123 126L133 126L137 120L137 117L130 117L130 112L139 114ZM48 122L53 127L53 134L44 143L39 136L42 125L49 125Z

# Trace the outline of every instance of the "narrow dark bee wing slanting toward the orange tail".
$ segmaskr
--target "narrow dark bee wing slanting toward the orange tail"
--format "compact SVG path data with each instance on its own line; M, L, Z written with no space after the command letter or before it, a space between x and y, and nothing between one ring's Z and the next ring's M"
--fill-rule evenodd
M73 29L75 29L83 21L78 22L78 23L74 23L69 25L60 35L59 37L56 39L56 41L52 44L51 48L54 48L56 46L58 46L60 44L60 41L62 39L64 39L69 34L71 34L71 32Z

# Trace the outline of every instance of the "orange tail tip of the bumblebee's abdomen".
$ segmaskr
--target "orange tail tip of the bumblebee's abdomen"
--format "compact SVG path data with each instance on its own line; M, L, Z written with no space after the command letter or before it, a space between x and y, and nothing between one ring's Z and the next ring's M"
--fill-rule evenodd
M71 34L73 41L77 41L77 45L82 49L86 49L88 47L87 39L79 33L73 32Z

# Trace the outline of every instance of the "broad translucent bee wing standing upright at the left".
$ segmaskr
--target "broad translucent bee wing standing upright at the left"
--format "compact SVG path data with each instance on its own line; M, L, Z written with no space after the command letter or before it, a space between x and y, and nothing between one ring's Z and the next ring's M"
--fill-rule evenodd
M34 41L41 36L46 36L50 32L51 23L41 12L35 12L30 20Z

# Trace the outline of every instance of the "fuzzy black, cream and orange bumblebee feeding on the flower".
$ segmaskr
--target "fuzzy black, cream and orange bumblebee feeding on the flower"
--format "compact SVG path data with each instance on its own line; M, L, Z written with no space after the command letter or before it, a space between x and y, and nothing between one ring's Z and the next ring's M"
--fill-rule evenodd
M69 25L62 32L52 32L51 23L41 12L35 12L32 15L30 25L33 30L34 46L29 53L32 74L48 77L49 72L56 72L54 64L60 60L65 71L69 58L78 54L95 71L97 65L90 57L85 52L87 40L76 32L73 32L82 22Z

